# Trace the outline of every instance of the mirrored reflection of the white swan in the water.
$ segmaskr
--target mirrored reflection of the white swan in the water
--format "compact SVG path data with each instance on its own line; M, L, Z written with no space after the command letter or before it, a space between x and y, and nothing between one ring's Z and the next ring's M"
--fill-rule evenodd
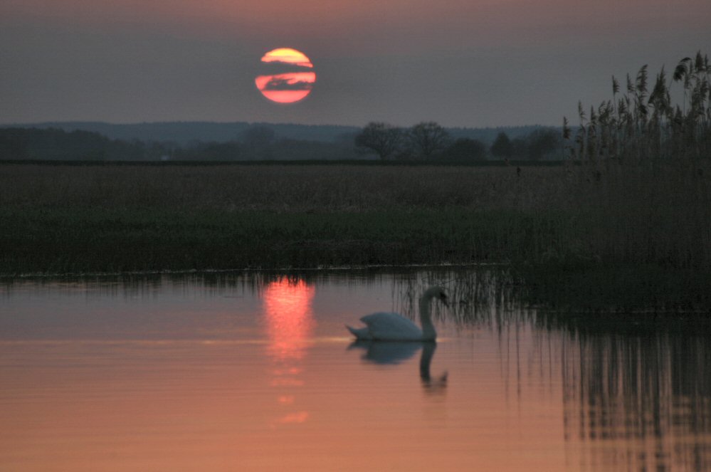
M447 387L447 372L443 372L438 377L430 374L432 357L437 349L435 341L423 342L384 342L384 341L362 341L357 340L349 345L348 350L365 350L361 359L365 362L372 362L379 365L398 365L409 360L418 350L422 350L420 356L420 381L427 393L444 393Z

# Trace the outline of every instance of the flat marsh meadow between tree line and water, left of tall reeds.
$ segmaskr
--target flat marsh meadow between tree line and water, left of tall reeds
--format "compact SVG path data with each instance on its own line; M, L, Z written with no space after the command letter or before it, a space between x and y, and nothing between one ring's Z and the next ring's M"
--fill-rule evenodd
M522 259L558 237L554 223L535 214L561 198L563 187L551 177L562 172L6 165L2 271Z

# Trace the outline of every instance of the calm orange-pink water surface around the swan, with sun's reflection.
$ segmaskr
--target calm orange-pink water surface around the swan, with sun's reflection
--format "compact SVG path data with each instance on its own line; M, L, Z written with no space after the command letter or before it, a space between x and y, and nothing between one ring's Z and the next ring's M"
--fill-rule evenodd
M430 343L354 345L414 315ZM700 333L581 332L494 276L100 278L0 287L3 471L711 467Z

